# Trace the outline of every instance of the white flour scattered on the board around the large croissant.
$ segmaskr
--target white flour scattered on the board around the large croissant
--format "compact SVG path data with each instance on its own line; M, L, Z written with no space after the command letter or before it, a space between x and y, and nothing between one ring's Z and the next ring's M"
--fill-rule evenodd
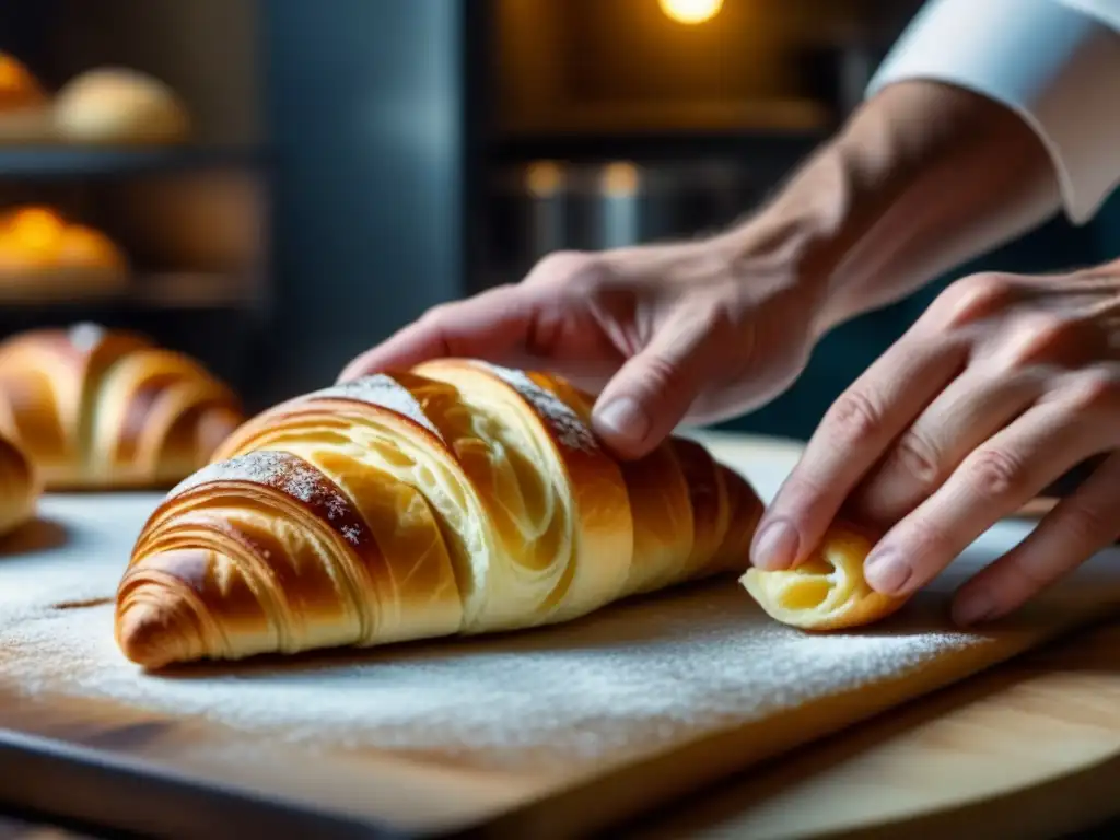
M763 494L772 493L775 480L759 483L757 475ZM112 595L132 541L160 498L45 500L44 513L65 521L72 539L41 553L0 558L4 693L28 702L48 696L102 699L194 717L307 754L386 749L460 765L571 771L608 756L647 754L991 644L952 632L921 609L904 610L870 632L809 636L771 622L729 585L619 605L531 633L146 675L114 645L111 605L53 605ZM995 532L924 603L943 606L945 589L1026 530ZM1079 591L1093 598L1116 597L1117 559L1105 552L1095 563L1099 575L1079 572L1057 590L1068 594L1080 581ZM1086 596L1073 596L1083 609Z

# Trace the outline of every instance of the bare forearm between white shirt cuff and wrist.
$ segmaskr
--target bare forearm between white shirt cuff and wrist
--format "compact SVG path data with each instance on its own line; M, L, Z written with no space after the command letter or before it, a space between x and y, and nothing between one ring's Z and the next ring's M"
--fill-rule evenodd
M889 86L730 234L780 239L818 302L818 332L897 300L1053 215L1061 195L1035 132L991 100Z

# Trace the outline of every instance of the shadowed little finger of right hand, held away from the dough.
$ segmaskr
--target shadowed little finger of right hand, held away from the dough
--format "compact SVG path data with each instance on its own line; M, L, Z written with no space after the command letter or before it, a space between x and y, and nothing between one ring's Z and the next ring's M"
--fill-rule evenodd
M988 622L1019 608L1120 536L1120 452L1113 452L1027 538L961 587L953 620Z

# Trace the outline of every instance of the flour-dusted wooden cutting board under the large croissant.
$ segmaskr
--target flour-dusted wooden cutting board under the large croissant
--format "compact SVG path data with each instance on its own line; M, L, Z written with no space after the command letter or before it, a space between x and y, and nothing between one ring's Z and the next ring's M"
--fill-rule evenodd
M709 442L767 498L799 451ZM1029 529L1009 522L862 633L812 637L777 626L724 581L532 633L152 676L119 655L101 599L156 501L49 498L47 522L0 559L0 726L53 739L10 736L7 749L0 740L0 796L167 836L241 831L230 818L234 791L268 797L237 800L236 813L251 813L258 829L267 819L290 828L314 811L323 837L361 824L570 837L1120 607L1120 564L1109 552L1014 622L955 632L944 618L948 594ZM146 776L130 775L138 763ZM95 794L52 797L32 768L77 774Z

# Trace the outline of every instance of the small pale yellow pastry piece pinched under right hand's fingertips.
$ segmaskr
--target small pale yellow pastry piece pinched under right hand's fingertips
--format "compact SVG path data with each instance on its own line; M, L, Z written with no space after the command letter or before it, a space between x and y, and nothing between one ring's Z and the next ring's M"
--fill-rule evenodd
M877 592L864 579L864 560L874 548L857 526L837 521L801 566L781 571L752 567L739 578L772 618L808 631L837 631L886 618L905 597Z

